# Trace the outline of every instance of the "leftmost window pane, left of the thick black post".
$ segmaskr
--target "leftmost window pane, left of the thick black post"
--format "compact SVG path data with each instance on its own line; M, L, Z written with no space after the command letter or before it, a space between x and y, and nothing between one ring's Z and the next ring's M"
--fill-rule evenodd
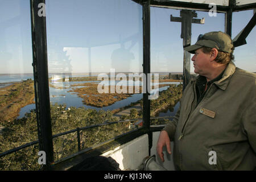
M38 140L32 68L30 1L0 2L0 153ZM35 149L36 147L34 147ZM38 148L0 159L0 170L40 168ZM29 155L27 155L29 154ZM26 157L25 157L26 156ZM26 163L26 165L24 165Z

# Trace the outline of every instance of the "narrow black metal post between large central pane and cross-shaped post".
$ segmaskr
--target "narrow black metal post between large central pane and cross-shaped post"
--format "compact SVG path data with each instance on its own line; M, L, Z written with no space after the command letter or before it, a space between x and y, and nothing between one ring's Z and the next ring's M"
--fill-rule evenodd
M147 77L150 74L150 0L143 2L143 73L146 75L143 86L148 88L150 84ZM148 129L148 154L150 155L152 133L150 133L150 100L148 99L150 93L148 91L150 90L143 93L143 126Z

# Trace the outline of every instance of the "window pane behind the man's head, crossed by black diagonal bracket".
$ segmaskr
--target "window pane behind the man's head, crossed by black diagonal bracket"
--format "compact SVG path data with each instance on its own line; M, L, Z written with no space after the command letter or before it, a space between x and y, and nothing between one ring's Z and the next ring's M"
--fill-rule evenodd
M234 39L243 28L245 28L252 16L253 10L233 13L232 39ZM238 68L245 69L249 72L256 72L255 37L256 29L254 27L246 38L247 44L234 49L234 63Z

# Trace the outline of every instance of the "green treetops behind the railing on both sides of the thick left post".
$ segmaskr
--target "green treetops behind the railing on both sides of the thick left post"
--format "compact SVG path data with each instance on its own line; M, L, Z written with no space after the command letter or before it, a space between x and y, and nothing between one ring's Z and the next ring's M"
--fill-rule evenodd
M70 107L65 110L65 107L57 104L51 106L53 135L77 127L116 121L111 111L96 111L84 107ZM23 118L5 123L4 126L5 130L0 134L0 152L38 140L35 110L26 113ZM80 131L81 149L92 147L127 131L129 131L129 123L117 123ZM76 152L77 133L54 138L53 150L55 161ZM35 145L4 156L0 160L0 170L38 170L41 167L38 164L38 151L38 145Z

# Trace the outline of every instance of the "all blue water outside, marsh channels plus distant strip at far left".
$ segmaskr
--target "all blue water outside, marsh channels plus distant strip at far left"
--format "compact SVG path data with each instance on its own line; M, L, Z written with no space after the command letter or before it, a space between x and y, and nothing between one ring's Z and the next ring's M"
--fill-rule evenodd
M51 76L51 75L49 75ZM78 76L88 76L88 75L72 75L73 77L78 77ZM1 86L7 86L8 84L10 84L10 82L16 82L16 81L21 81L21 80L27 80L28 78L31 78L33 80L33 74L13 74L13 75L0 75L0 88ZM73 81L73 82L50 82L50 84L56 86L57 88L51 88L49 87L49 94L50 94L50 102L52 105L54 105L55 103L57 104L61 104L61 105L66 105L66 109L68 109L68 107L85 107L86 109L96 109L96 110L114 110L114 109L118 109L120 107L125 107L127 105L130 105L132 102L137 102L139 100L142 99L143 94L133 94L131 95L131 97L127 97L124 100L121 101L117 101L114 104L110 105L110 106L105 106L105 107L94 107L94 106L89 106L89 105L85 105L82 103L82 98L78 97L76 93L73 92L68 92L69 90L73 89L73 88L82 88L84 86L73 86L71 88L72 84L82 84L85 82L93 82L95 84L98 84L99 82L101 82L101 84L103 83L102 81ZM119 81L115 81L115 85L118 83ZM108 85L108 82L104 82L105 85ZM109 84L112 85L109 81ZM120 84L120 83L119 83ZM159 85L162 84L179 84L179 82L159 82ZM127 84L128 86L129 84ZM139 82L139 85L141 85L141 82ZM166 90L168 89L169 86L164 86L162 88L159 88L159 92L161 92L162 90ZM175 106L176 107L176 106ZM24 106L20 109L19 112L19 117L18 118L22 118L24 117L24 115L28 112L30 112L31 109L35 109L35 104L30 104L27 106ZM169 110L167 111L167 113L160 113L159 116L163 116L163 115L171 115L172 113L175 113L176 110L174 109L174 112L170 112Z

